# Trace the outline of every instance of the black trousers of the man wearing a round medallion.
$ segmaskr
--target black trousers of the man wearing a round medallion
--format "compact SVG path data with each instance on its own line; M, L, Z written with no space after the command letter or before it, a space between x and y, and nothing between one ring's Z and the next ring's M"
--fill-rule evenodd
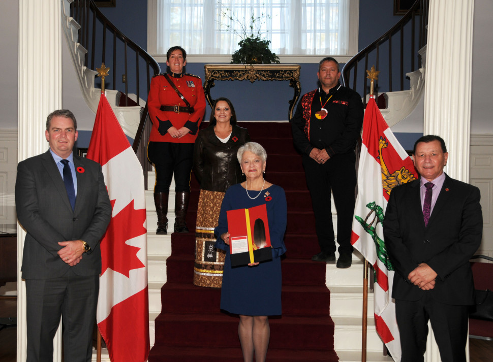
M332 223L330 190L337 211L337 243L339 253L351 254L351 226L353 223L356 156L354 152L337 154L320 164L310 156L303 155L306 184L312 198L315 229L320 250L335 252L335 235Z

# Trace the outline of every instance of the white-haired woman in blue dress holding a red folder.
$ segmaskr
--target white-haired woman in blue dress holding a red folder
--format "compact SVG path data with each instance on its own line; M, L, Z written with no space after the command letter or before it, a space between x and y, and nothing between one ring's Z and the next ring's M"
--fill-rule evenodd
M231 186L224 196L215 247L226 251L221 290L221 309L238 314L238 335L243 360L265 361L269 345L269 315L281 315L281 255L286 251L287 206L284 189L263 178L267 160L265 149L248 142L238 149L238 161L246 181ZM227 211L265 204L272 246L272 260L231 267Z

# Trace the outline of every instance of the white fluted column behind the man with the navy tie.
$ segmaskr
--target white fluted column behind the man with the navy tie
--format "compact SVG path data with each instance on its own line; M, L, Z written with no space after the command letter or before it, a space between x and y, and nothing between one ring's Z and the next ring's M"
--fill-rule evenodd
M61 1L19 1L18 160L48 149L46 117L61 108ZM24 230L17 227L17 361L26 360L25 283L21 279ZM60 329L53 361L61 360Z

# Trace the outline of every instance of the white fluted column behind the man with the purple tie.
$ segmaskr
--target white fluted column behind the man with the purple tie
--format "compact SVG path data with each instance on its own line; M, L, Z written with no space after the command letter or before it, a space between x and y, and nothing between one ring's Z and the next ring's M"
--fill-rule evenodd
M430 0L426 79L425 135L439 135L449 152L445 172L469 180L471 65L474 0ZM428 323L426 362L440 361ZM466 347L469 360L469 344Z

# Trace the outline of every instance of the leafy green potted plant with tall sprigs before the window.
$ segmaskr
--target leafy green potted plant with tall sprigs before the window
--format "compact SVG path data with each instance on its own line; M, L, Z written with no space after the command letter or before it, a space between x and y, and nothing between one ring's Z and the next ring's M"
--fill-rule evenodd
M220 3L221 5L221 3ZM241 27L238 31L230 24L224 24L218 21L220 25L226 26L226 31L236 34L241 38L238 45L240 48L232 55L231 64L270 64L280 63L279 57L269 49L270 40L261 39L261 26L267 20L271 19L270 15L264 13L255 17L250 17L250 24L246 25L241 22L236 14L229 8L220 11L221 17L228 19L231 23L237 23ZM255 30L255 33L254 33Z

